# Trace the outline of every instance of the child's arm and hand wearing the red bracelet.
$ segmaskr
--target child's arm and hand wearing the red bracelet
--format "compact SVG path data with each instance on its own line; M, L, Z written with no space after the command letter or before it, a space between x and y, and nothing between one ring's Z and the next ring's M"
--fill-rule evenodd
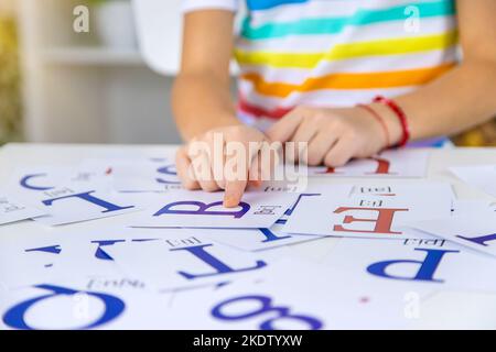
M396 99L409 118L411 138L454 134L496 114L495 0L457 1L463 63L439 79ZM398 119L371 105L388 125L389 141L401 139ZM386 146L380 124L363 108L296 108L268 131L277 141L309 142L309 164L341 166Z

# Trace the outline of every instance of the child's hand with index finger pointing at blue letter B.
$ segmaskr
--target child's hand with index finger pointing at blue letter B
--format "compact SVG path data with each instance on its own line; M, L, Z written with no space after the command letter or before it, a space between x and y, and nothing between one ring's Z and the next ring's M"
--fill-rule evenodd
M265 141L263 133L247 125L214 129L193 139L176 155L177 175L183 187L206 191L225 189L224 206L237 207L248 185L261 184L259 163L254 158ZM244 157L237 157L239 155L233 151L229 153L231 142L242 145ZM236 175L233 175L234 169Z

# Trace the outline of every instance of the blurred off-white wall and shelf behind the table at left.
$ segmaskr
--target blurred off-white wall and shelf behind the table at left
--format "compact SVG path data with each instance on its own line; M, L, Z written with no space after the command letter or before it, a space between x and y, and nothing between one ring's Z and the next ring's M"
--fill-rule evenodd
M89 34L74 33L72 12L82 2L17 1L21 10L28 140L180 142L170 103L173 77L152 72L138 48L101 46L93 22ZM166 23L174 25L171 32L181 31L176 28L180 21ZM171 50L171 55L177 54L179 48Z

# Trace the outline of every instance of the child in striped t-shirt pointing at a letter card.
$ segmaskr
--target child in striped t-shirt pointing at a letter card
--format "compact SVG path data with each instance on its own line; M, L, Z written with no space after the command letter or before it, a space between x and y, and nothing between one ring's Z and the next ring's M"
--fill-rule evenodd
M198 158L216 167L211 153L193 155L187 146L212 145L217 132L225 143L306 142L304 162L336 167L409 141L441 144L496 113L494 0L246 0L234 35L242 4L184 1L173 91L188 143L176 158L183 185L225 189L226 207L239 204L254 165L234 180L188 172ZM229 96L233 52L237 107Z

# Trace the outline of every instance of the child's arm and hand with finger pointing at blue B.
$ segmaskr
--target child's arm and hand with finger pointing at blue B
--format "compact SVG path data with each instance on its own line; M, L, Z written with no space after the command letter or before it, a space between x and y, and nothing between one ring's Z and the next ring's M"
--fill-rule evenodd
M173 89L173 110L176 124L186 145L176 156L177 174L187 189L215 191L225 189L224 204L236 207L250 175L251 160L244 165L246 175L240 179L227 178L212 157L214 136L222 135L225 143L241 142L248 151L249 142L261 142L265 135L244 125L236 117L229 90L229 63L233 56L234 13L205 10L187 13L181 73ZM191 146L205 142L208 151L193 154ZM207 165L200 173L191 173L191 165ZM226 163L227 165L227 163ZM218 172L219 170L219 172ZM254 173L254 172L252 172ZM257 183L254 183L257 185Z

